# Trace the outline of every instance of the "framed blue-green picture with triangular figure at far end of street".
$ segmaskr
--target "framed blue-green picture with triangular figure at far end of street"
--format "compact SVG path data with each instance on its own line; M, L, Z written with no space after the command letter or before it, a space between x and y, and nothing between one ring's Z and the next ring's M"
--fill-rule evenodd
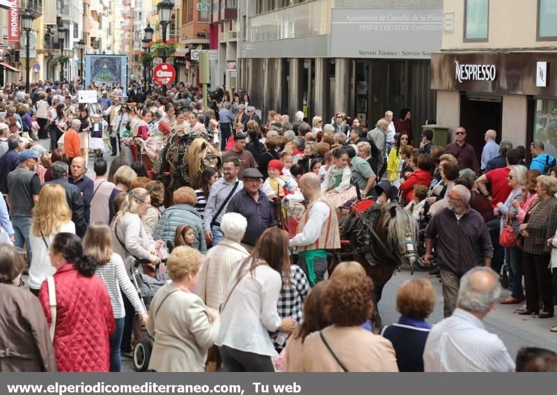
M127 91L127 56L126 55L86 55L85 84L95 86L120 84Z

